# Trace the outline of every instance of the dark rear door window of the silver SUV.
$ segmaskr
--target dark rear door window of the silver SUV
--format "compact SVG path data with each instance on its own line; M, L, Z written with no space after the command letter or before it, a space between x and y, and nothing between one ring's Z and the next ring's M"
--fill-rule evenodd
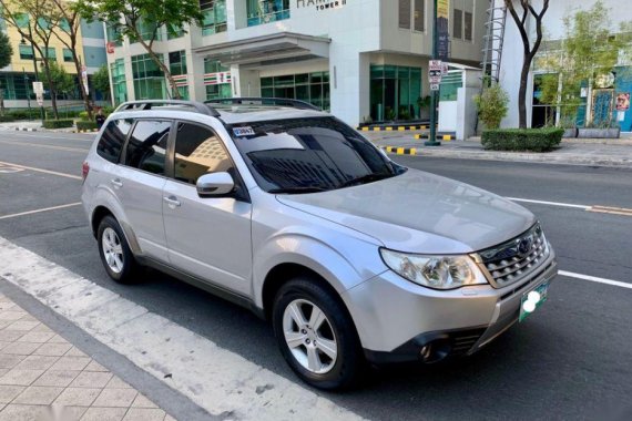
M164 174L164 156L171 122L140 120L128 143L125 165Z

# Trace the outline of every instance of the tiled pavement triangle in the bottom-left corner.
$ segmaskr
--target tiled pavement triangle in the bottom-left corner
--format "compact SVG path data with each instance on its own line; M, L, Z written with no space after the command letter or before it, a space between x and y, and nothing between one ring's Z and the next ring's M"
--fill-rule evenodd
M0 421L174 420L0 295Z

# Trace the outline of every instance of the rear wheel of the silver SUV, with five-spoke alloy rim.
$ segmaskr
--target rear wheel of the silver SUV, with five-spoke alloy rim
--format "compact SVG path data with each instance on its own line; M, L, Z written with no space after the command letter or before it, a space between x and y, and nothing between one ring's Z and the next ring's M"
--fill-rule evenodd
M96 239L101 261L108 275L121 284L132 283L136 263L116 219L110 215L101 219Z

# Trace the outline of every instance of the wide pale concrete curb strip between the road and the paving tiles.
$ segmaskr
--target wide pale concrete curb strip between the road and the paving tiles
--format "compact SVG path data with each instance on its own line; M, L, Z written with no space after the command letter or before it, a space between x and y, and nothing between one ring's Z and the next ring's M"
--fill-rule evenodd
M0 276L214 415L360 420L314 391L2 237L0 261ZM166 374L171 376L165 379Z

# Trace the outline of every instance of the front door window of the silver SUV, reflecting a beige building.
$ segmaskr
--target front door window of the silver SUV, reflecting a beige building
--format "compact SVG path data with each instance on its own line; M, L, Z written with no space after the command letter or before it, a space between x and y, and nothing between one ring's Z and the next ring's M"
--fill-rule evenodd
M228 172L235 176L233 163L217 135L188 123L177 124L174 172L175 179L191 184L207 173Z

